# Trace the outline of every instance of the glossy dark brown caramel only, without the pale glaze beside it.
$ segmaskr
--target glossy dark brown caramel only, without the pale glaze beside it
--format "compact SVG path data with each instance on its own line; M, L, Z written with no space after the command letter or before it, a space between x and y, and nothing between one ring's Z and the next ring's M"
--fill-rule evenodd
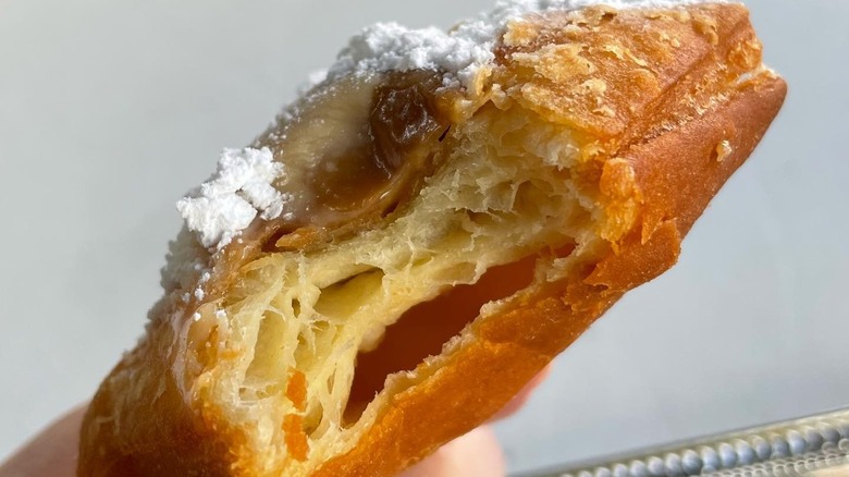
M333 137L339 144L311 158L298 212L273 225L276 233L264 248L327 242L385 218L415 196L440 166L435 152L451 129L435 93L440 77L432 71L386 73L366 91L370 98L365 114L354 106L355 110L343 108L332 118L346 121L344 126L324 118L310 119L308 110L302 112L300 123L293 127L324 127L328 133L339 126L344 131ZM361 86L352 86L350 91L343 87L335 96L362 95L357 88ZM280 150L285 155L285 145ZM285 156L281 159L286 160Z

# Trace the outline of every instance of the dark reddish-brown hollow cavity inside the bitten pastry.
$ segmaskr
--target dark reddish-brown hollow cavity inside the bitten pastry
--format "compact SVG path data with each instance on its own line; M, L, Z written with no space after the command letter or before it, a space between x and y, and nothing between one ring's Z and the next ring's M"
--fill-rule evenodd
M354 370L345 423L356 423L366 406L383 389L389 375L413 370L428 356L475 320L487 303L506 298L527 288L533 279L538 255L493 267L477 283L448 289L436 298L408 309L386 328L377 348L359 353Z

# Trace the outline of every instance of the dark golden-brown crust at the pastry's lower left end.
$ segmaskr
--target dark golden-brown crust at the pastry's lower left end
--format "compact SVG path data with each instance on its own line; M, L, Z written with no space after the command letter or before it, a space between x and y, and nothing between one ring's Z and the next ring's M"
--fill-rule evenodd
M109 386L93 399L83 421L77 475L177 476L200 468L202 475L230 475L237 441L220 436L185 403L163 350L173 337L168 328L164 321L151 323L148 333L156 338L146 338L124 356ZM142 395L144 405L136 401ZM120 419L110 418L115 408Z

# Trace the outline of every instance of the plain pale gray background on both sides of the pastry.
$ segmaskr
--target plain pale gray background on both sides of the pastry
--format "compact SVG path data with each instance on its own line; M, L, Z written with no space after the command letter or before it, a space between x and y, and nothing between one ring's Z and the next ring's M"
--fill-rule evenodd
M0 2L0 457L133 345L174 201L379 20L490 0ZM527 469L849 404L849 2L752 0L789 100L685 243L499 436Z

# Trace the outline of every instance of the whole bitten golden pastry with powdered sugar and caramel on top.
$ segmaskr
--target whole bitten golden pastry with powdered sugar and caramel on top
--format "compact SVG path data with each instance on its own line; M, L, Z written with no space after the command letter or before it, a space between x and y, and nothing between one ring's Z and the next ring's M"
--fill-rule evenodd
M385 476L485 421L681 238L778 112L745 7L383 24L177 207L81 476Z

